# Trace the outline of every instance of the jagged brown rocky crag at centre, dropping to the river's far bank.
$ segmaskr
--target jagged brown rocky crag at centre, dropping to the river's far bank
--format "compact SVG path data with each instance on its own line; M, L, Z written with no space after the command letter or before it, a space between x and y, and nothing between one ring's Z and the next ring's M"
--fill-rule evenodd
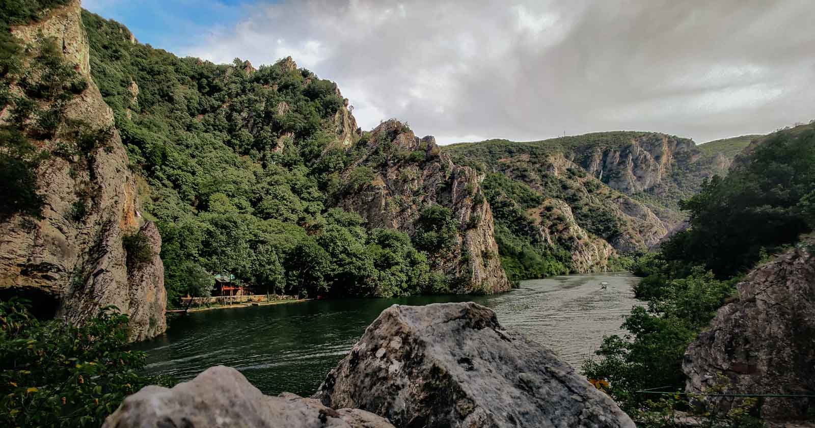
M346 188L337 206L359 214L372 227L411 235L422 208L447 207L459 224L456 245L447 254L432 254L434 267L461 279L456 293L510 288L498 258L492 211L480 187L482 175L454 164L433 137L419 139L399 121L383 122L359 144L361 155L341 178L348 183L360 171L372 175Z

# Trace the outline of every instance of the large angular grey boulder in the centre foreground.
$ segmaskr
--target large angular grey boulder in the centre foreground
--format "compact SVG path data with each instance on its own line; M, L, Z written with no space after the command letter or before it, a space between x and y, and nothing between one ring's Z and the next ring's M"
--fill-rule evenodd
M569 364L473 302L382 311L312 398L398 427L634 426Z

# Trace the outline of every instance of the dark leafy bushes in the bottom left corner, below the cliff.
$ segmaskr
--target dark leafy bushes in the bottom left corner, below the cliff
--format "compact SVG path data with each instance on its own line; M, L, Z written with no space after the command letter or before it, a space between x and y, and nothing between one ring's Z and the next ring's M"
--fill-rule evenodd
M126 351L127 315L107 308L82 327L40 321L0 302L0 421L5 426L101 426L127 395L166 383L143 377Z

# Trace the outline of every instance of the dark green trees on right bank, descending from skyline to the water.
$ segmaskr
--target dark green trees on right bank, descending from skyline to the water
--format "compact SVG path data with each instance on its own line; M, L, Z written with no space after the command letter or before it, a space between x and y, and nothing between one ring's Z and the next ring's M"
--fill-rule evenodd
M661 253L639 258L633 271L645 278L636 293L647 305L635 307L623 323L628 333L605 338L597 358L583 367L587 377L608 382L606 390L623 408L664 410L664 400L648 403L649 396L636 391L682 390L685 349L722 304L738 298L739 274L812 230L813 135L804 126L764 139L727 177L714 177L683 202L689 230L663 244Z

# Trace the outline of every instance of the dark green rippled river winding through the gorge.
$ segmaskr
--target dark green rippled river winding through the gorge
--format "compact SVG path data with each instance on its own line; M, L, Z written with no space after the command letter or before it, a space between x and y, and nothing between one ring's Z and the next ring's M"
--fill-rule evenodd
M307 396L386 307L474 301L496 311L504 326L579 368L604 335L620 332L623 315L638 304L632 291L637 280L628 273L556 276L522 281L519 289L492 296L320 300L200 311L173 320L167 333L134 349L147 351L150 373L183 381L224 364L266 394ZM606 289L601 281L609 283Z

